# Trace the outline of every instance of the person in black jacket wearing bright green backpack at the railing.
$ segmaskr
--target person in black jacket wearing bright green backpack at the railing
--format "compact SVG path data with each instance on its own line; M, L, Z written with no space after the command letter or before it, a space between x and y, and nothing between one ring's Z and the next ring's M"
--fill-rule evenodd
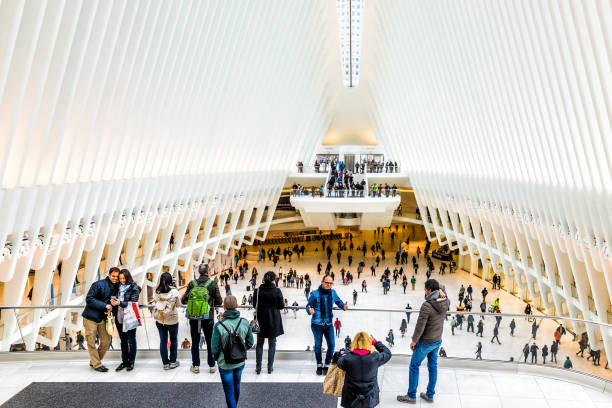
M204 332L209 372L214 373L216 368L211 346L215 324L214 308L220 306L223 299L217 282L209 278L208 269L207 264L199 266L200 277L189 282L181 301L187 305L191 343L200 344L200 335L202 331ZM198 374L200 372L200 349L196 346L191 348L191 363L191 372Z

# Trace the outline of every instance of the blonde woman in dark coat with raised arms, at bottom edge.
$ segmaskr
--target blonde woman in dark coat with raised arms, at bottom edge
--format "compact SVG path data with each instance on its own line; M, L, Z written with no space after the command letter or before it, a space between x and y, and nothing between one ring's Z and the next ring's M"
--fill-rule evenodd
M365 332L355 335L351 352L338 359L346 372L342 388L342 407L371 408L378 405L378 367L391 359L391 351Z

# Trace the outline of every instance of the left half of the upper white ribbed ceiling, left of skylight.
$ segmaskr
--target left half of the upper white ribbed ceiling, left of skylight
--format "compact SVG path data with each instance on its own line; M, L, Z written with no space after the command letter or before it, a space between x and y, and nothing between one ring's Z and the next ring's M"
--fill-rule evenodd
M332 31L324 2L0 1L1 185L288 169Z

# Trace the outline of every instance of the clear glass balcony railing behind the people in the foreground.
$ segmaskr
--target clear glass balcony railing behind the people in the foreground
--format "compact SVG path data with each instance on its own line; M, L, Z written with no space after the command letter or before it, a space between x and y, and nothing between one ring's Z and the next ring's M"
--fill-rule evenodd
M14 330L20 333L19 338L12 342L11 351L25 350L25 345L29 344L31 330L28 326L32 323L35 310L44 309L45 312L58 314L65 312L80 314L82 308L82 306L0 307L3 316L3 331L7 329L8 315L19 316L16 323L11 323ZM142 326L137 329L139 350L159 349L159 335L151 311L151 305L141 306ZM215 314L221 311L220 308L217 308ZM75 315L71 316L70 313L66 313L68 320L72 317L74 321ZM253 318L253 309L248 306L240 306L240 313L246 319ZM366 331L376 339L390 344L394 354L410 355L411 336L418 313L418 310L401 309L335 310L334 318L337 317L342 324L336 336L336 349L344 346L347 336L352 337L358 331ZM182 311L180 315L184 316ZM277 350L312 349L310 318L304 308L289 307L281 311L281 315L285 334L278 337ZM13 319L8 319L9 322L11 320ZM452 327L453 322L456 323L454 328ZM480 329L481 323L482 330ZM497 337L494 336L496 325L498 325ZM512 326L514 329L511 328ZM555 339L555 331L558 329L563 333L559 342ZM77 351L81 349L76 341L77 332L62 330L57 344L50 347L49 344L36 343L36 350ZM42 328L40 334L44 335L45 331ZM390 331L392 331L392 337ZM482 333L479 333L480 331ZM7 335L6 332L3 334ZM609 379L610 372L607 370L608 360L604 352L603 337L612 337L611 324L558 316L449 312L445 322L442 347L449 358L538 364L556 369L566 369L564 364L569 357L572 370ZM178 339L179 349L184 339L191 341L189 324L184 317L181 317L179 321ZM478 353L479 343L480 353ZM113 345L115 350L119 349L117 333L114 334ZM83 346L86 347L86 344ZM528 350L525 349L526 346ZM204 347L205 344L201 348Z

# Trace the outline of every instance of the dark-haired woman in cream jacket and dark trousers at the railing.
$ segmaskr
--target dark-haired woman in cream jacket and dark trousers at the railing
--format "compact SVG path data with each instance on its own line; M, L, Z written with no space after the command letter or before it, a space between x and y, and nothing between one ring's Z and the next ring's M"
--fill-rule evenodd
M155 307L153 318L159 332L159 352L161 354L164 370L170 370L179 366L176 361L178 349L178 310L179 292L174 287L172 275L168 272L162 273L159 285L153 294ZM170 357L168 357L168 337L170 337Z

